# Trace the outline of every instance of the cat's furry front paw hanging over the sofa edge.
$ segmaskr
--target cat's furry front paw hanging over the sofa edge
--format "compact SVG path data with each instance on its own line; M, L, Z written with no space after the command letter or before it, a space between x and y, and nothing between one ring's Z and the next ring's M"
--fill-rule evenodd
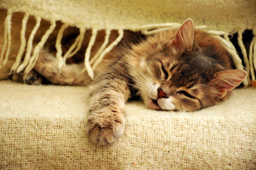
M93 112L88 116L86 131L89 140L99 146L117 141L123 134L125 117L112 111Z

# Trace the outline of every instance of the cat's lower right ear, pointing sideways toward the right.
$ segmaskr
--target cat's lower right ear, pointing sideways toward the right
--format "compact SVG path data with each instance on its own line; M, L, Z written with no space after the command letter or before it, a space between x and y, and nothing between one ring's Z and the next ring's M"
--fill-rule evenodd
M215 85L217 92L224 97L230 90L238 86L247 76L245 70L225 70L217 72L214 79L210 81L211 85Z

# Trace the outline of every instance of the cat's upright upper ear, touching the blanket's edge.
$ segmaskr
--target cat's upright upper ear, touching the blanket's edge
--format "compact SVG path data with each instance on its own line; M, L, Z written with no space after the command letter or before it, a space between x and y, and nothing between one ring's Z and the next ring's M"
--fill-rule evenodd
M195 26L192 19L187 19L177 30L173 39L170 41L170 46L180 50L191 50L194 43Z

